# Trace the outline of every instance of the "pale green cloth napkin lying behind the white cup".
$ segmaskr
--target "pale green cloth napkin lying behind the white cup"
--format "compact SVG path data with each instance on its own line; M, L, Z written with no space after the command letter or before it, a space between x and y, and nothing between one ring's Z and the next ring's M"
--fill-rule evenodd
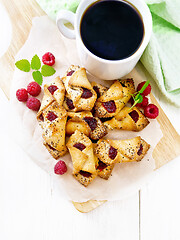
M80 0L36 0L55 20L60 9L76 11ZM167 101L180 107L180 0L145 0L153 33L141 62Z

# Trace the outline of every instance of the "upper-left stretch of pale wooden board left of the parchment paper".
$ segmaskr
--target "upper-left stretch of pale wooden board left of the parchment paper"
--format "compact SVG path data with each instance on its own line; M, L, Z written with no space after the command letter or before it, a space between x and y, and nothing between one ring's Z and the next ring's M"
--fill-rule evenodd
M45 15L34 0L0 0L6 8L12 24L12 40L8 51L0 59L0 87L9 99L14 57L25 43L32 26L32 18Z

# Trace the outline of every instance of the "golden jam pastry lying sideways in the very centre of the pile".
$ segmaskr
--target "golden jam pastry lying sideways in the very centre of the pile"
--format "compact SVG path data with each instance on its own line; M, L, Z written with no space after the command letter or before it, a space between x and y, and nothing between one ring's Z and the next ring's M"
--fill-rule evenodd
M93 117L91 112L69 112L70 119L66 124L66 134L72 135L75 130L83 132L92 140L98 140L107 134L106 127L97 117Z

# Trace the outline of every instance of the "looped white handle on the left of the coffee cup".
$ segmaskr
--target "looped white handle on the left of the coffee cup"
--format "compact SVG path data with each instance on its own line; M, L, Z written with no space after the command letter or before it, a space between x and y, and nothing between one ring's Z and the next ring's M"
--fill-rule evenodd
M65 21L70 22L74 27L75 14L68 10L60 10L56 17L56 24L59 31L67 38L75 39L75 30L72 30L64 25Z

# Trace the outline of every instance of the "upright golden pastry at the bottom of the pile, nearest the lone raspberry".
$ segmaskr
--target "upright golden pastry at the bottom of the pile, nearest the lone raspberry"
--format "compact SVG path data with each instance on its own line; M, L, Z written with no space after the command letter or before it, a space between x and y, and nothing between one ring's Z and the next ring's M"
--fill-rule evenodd
M85 187L97 176L96 158L91 140L76 130L67 143L72 162L73 176Z

